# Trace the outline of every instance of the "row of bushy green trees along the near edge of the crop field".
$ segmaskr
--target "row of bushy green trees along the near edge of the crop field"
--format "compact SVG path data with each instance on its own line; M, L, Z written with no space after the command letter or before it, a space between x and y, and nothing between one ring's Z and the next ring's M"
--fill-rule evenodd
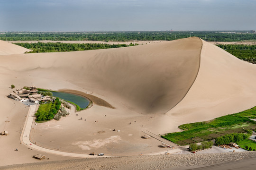
M247 134L244 133L232 133L224 136L217 137L215 139L216 145L229 144L230 142L238 143L242 140L248 139L252 135L252 130L248 130Z

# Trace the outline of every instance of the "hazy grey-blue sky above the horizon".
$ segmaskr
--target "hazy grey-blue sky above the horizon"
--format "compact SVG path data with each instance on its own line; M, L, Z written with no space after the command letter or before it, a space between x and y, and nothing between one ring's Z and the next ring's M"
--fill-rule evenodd
M0 0L1 31L256 30L256 0Z

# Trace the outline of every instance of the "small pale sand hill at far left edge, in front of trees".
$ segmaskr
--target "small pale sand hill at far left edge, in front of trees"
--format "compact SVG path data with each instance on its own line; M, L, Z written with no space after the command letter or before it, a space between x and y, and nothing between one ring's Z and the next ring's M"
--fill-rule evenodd
M0 55L24 54L26 51L31 50L0 40Z

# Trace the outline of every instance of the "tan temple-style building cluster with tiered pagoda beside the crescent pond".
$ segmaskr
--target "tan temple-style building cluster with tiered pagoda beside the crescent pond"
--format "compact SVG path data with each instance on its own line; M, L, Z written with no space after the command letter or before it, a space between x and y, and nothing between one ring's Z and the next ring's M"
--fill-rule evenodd
M53 100L49 96L42 96L41 94L37 94L37 92L37 87L35 85L32 85L30 87L30 90L24 88L20 90L14 90L12 93L9 94L9 97L20 102L29 101L34 103L49 102Z

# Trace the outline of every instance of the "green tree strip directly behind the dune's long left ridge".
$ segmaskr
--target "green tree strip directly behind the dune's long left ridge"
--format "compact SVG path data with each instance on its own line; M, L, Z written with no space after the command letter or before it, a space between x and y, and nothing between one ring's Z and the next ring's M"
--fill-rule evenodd
M26 53L35 53L35 52L67 52L67 51L84 51L84 50L96 50L96 49L108 49L108 48L119 48L119 47L128 47L138 44L131 43L130 45L126 44L102 44L102 43L62 43L62 42L37 42L37 43L23 43L17 42L14 43L21 47L33 50Z

